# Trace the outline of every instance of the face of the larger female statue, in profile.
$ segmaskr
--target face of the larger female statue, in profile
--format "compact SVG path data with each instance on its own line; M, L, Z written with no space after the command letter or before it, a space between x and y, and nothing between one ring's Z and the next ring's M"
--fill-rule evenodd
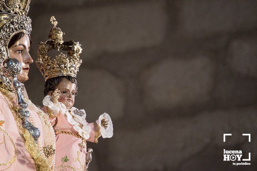
M21 71L17 76L17 79L20 82L25 82L28 80L29 64L33 62L33 59L29 54L29 48L30 40L26 34L23 36L23 38L15 42L12 47L8 48L10 57L17 59L20 62Z

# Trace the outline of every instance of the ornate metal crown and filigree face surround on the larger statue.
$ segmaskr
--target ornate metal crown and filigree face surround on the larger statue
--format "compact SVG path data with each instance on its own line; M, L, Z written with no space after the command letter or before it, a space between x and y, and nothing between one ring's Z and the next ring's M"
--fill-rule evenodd
M31 32L31 19L26 16L30 0L0 0L0 64L8 57L8 44L13 35ZM11 80L0 69L0 80L10 90Z

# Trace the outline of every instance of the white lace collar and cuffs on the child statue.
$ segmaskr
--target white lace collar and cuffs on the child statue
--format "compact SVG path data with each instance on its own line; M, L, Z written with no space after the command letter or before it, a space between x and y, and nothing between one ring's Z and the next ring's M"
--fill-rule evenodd
M61 102L54 104L51 101L51 96L45 96L43 99L43 105L49 107L54 115L57 115L59 112L61 112L61 114L67 117L68 122L73 125L73 128L80 136L84 137L86 140L89 138L91 127L88 126L86 121L86 112L84 109L78 110L76 107L71 107L67 110L65 105ZM109 121L109 127L107 129L101 126L101 120L103 117L107 118ZM107 113L100 115L96 123L100 128L99 137L102 136L103 138L110 138L113 136L112 120ZM82 128L80 125L83 125Z

